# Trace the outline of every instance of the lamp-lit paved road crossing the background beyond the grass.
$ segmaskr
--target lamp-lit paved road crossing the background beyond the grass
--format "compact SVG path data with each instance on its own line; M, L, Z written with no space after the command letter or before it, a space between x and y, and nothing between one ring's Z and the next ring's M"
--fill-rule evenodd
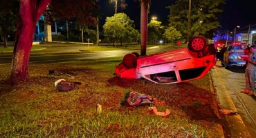
M123 57L124 55L131 52L138 52L140 50L111 50L103 52L89 52L89 51L80 51L84 48L83 46L76 46L69 48L67 46L54 46L48 47L44 50L32 51L30 54L30 63L51 63L57 61L71 61L71 60L82 60L82 59L100 59L106 57ZM147 52L162 52L168 50L170 47L162 46L159 48L151 47L147 48ZM0 65L1 64L10 64L12 62L12 53L11 52L2 52L0 53Z

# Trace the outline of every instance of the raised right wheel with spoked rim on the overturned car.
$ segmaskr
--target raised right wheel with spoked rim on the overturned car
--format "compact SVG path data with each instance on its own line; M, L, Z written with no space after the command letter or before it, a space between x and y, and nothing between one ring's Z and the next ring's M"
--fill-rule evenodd
M207 46L207 44L203 37L194 37L190 40L190 43L188 43L188 47L193 52L200 52L205 48L205 46Z

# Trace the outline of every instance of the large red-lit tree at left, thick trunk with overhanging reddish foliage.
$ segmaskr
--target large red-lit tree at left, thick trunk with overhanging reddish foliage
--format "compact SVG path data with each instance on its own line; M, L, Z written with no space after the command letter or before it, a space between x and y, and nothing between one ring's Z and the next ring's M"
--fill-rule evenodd
M16 31L16 41L13 49L12 68L10 72L10 80L14 83L25 81L28 79L28 59L33 43L35 26L37 20L46 10L46 6L53 6L55 14L60 13L64 17L76 17L84 15L83 21L88 21L91 18L91 8L84 7L77 10L78 6L94 6L98 0L53 0L53 3L48 5L52 0L19 0L19 14ZM92 3L92 4L91 4ZM62 6L62 7L54 7ZM82 8L82 7L81 7ZM57 12L60 11L60 12ZM86 17L89 16L89 17Z

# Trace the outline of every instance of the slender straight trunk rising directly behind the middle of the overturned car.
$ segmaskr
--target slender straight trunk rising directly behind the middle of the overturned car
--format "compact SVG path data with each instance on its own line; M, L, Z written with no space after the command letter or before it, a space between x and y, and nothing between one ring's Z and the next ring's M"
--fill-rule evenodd
M140 2L140 55L146 55L147 50L147 6L145 1Z

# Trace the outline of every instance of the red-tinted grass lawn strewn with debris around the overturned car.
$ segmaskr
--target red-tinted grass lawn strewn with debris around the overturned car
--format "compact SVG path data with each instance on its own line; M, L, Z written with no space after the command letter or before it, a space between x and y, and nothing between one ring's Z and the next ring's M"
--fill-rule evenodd
M0 66L1 137L221 137L219 124L191 119L184 110L210 105L218 116L210 72L196 81L159 85L114 77L121 61L122 57L116 57L30 64L30 79L17 86L6 81L10 65ZM55 72L49 75L48 70ZM82 84L59 92L54 86L57 79ZM170 109L170 116L154 115L147 106L121 106L125 93L131 91L165 101L156 108L160 112ZM102 105L99 115L98 103Z

